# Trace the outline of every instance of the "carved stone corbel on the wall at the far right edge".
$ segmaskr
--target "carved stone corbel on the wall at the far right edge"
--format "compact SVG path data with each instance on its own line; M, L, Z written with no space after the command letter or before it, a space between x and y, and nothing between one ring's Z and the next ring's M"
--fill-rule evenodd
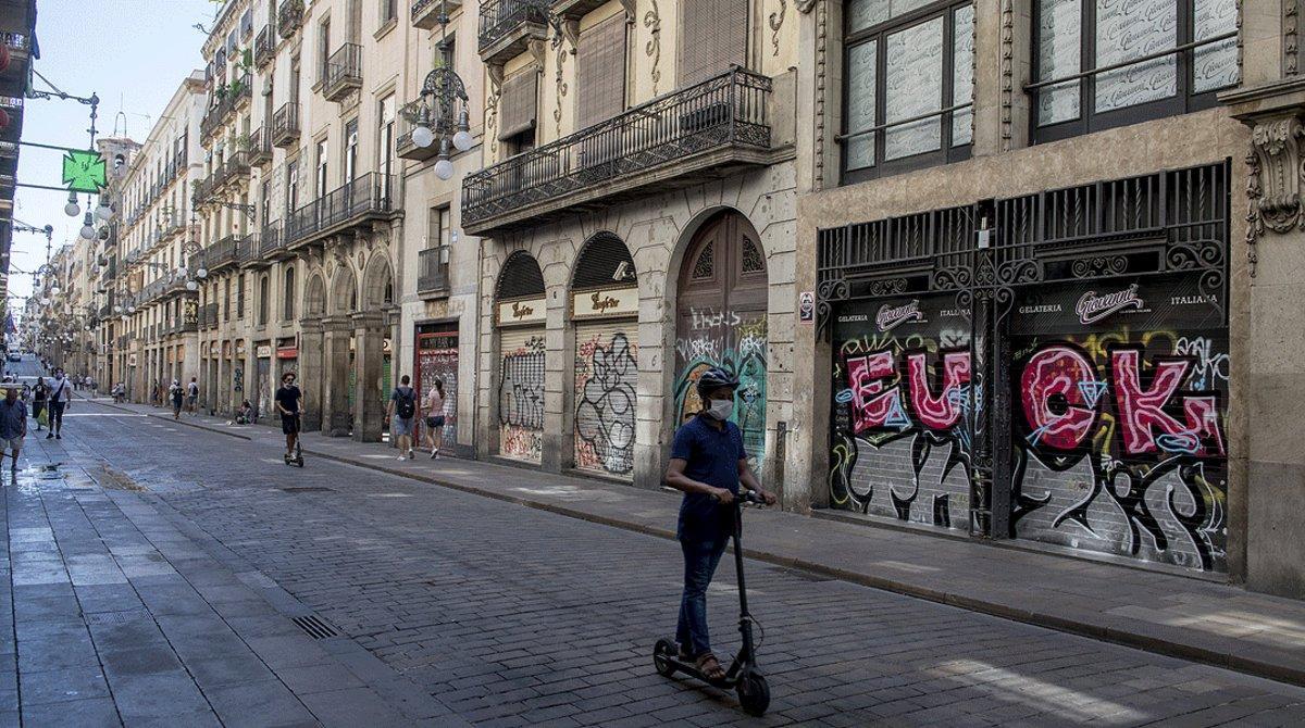
M1257 123L1246 155L1246 257L1255 275L1255 244L1265 231L1305 227L1301 215L1301 120L1296 115Z

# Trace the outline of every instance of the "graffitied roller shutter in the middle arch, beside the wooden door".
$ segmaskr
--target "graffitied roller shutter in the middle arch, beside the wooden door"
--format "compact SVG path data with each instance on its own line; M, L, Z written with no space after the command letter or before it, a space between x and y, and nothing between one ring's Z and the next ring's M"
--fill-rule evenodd
M632 479L638 321L576 325L576 467Z

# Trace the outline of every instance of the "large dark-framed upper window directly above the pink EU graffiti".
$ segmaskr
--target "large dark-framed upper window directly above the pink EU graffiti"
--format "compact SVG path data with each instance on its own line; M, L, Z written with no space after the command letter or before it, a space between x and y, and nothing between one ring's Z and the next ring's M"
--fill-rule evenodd
M848 3L844 183L970 157L974 13L971 3Z

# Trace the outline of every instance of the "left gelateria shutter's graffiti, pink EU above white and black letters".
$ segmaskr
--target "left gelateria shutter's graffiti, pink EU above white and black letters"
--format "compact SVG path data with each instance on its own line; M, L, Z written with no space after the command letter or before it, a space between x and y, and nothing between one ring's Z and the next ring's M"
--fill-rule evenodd
M954 301L954 299L950 299ZM830 497L837 508L967 528L970 334L945 300L848 307L835 324Z

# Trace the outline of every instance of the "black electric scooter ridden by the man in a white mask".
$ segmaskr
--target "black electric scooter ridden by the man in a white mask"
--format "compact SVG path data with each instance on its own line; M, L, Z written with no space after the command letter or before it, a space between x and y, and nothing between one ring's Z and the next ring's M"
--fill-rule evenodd
M749 504L763 504L763 501L754 493L740 493L735 498L735 531L733 539L733 552L735 552L735 573L739 575L739 633L743 635L743 645L739 646L739 654L735 655L732 663L729 663L729 669L726 671L726 676L720 680L707 680L702 671L698 669L692 661L685 661L680 658L680 647L676 645L675 639L663 637L656 641L656 646L652 647L652 665L656 668L658 675L663 677L671 677L676 672L683 672L692 677L696 677L707 685L714 685L726 690L733 689L739 693L739 705L743 706L744 712L753 716L765 715L766 708L770 707L770 685L766 682L766 676L761 675L761 669L757 667L757 652L756 646L752 639L752 614L748 613L748 586L743 577L743 547L740 544L743 539L743 502Z

